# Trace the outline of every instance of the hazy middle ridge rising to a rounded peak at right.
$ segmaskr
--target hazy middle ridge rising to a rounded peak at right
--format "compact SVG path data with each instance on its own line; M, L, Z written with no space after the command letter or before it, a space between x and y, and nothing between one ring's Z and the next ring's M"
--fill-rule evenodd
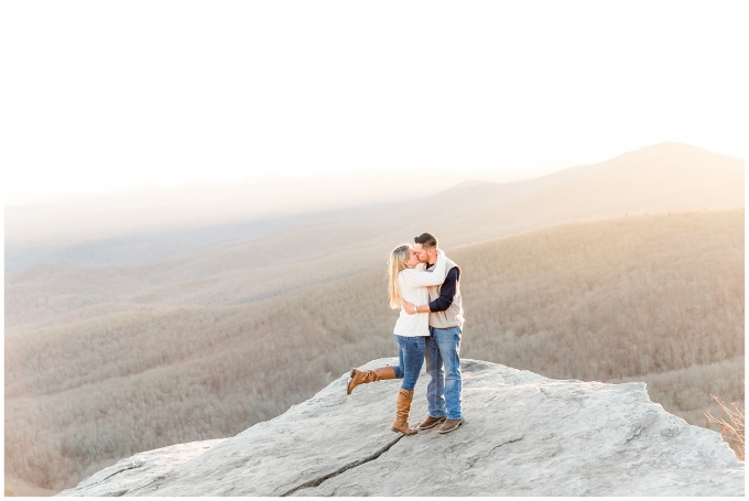
M406 185L421 182L403 179ZM197 218L197 228L149 232L146 225L140 233L117 236L108 232L115 226L107 232L95 226L90 235L84 231L93 239L86 244L68 248L63 238L59 249L18 251L22 261L44 263L7 276L4 325L17 333L68 323L70 314L87 318L122 311L123 305L248 304L380 266L394 242L425 229L452 248L575 220L739 207L743 161L663 143L534 179L466 182L430 197L379 206L311 208L294 217L234 225L199 226L203 219ZM33 220L13 220L12 214L7 219L7 226L35 228ZM7 249L14 246L8 238L6 243ZM13 261L8 251L6 260L7 266Z

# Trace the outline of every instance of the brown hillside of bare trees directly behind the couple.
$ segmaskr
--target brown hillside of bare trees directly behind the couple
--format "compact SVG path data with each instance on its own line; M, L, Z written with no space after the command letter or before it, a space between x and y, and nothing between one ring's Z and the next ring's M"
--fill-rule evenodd
M653 401L698 425L709 392L743 401L743 209L571 222L446 250L463 269L463 356L647 381ZM247 304L121 305L8 336L7 482L61 490L141 450L230 436L394 356L386 258Z

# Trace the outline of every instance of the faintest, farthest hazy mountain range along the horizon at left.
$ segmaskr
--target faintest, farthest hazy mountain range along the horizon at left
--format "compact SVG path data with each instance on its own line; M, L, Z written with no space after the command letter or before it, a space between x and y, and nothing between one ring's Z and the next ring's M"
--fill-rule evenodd
M490 172L368 170L311 177L254 176L236 183L141 184L6 207L6 270L29 263L141 263L253 238L297 218L433 195ZM145 244L145 248L143 247Z

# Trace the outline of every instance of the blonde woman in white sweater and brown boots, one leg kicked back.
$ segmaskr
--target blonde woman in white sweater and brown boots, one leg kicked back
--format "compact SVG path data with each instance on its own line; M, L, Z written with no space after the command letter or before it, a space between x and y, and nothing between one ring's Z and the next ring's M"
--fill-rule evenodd
M388 296L390 307L401 309L395 322L393 334L399 347L399 363L374 370L360 371L351 369L348 382L348 394L359 384L380 381L383 379L403 379L398 392L395 421L393 432L414 435L417 431L409 426L409 413L413 400L413 389L419 379L419 372L424 364L425 338L430 335L428 313L411 314L401 306L401 299L413 303L416 307L428 303L430 296L425 287L439 285L445 280L445 253L437 251L437 262L432 273L417 270L419 257L411 246L400 246L390 253L388 266Z

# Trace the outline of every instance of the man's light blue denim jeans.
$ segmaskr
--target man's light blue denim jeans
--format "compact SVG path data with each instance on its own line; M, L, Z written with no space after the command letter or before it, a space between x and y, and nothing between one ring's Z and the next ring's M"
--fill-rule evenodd
M460 327L430 327L426 338L426 402L432 417L462 420L463 379L460 375ZM444 366L444 369L443 369Z

